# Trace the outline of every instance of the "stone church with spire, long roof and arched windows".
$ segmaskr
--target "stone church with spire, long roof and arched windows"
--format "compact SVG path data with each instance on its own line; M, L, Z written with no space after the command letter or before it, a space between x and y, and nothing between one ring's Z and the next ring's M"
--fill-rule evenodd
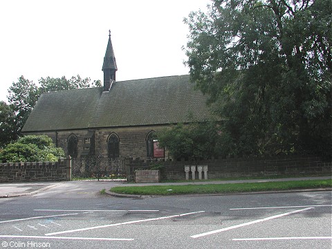
M73 158L156 158L165 156L156 131L210 117L189 75L117 82L111 35L102 71L103 87L43 93L23 132L49 136Z

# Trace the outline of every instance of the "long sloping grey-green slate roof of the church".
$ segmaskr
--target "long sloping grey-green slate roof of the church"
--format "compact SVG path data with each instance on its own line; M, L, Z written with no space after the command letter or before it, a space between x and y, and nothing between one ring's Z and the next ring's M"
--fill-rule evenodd
M190 122L210 117L206 98L189 75L115 82L102 87L44 93L24 132Z

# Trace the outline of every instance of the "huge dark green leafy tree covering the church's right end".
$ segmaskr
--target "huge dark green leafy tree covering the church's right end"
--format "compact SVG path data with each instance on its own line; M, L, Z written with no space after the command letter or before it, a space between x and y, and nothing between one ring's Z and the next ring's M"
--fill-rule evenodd
M226 118L223 149L331 153L331 0L214 0L185 22L192 82Z

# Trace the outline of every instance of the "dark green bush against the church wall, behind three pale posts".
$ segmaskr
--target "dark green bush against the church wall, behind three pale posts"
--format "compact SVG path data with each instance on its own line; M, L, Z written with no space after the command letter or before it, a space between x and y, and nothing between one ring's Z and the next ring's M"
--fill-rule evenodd
M207 159L217 156L218 132L215 122L191 122L176 124L158 131L159 146L166 147L175 159Z

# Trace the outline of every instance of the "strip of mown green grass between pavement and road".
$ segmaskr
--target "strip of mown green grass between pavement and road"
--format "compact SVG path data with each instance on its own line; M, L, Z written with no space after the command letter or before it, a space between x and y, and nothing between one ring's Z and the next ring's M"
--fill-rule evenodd
M111 192L138 195L232 194L276 190L303 190L332 187L332 180L283 181L267 183L225 183L206 185L154 185L112 187Z

